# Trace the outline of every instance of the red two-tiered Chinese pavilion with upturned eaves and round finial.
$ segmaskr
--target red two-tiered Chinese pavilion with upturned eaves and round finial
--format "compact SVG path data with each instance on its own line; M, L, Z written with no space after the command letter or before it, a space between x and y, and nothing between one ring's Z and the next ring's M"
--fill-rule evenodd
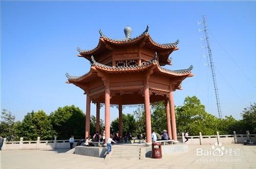
M86 137L90 135L90 105L96 104L96 131L99 131L100 104L105 106L105 137L110 137L110 106L119 107L119 133L122 136L122 105L144 104L146 141L151 144L150 103L165 101L167 133L177 141L173 92L181 89L181 82L192 77L187 69L169 70L172 65L169 55L178 50L174 43L155 42L146 30L131 38L132 29L124 29L125 38L115 40L99 30L100 38L93 50L77 49L79 57L91 62L91 69L82 76L66 74L68 81L80 87L87 95Z

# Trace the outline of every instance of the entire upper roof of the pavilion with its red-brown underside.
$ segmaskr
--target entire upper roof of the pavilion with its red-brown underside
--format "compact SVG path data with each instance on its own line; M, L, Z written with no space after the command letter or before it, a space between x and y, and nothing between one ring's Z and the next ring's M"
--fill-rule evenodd
M177 44L179 43L179 40L177 40L174 43L165 43L160 44L155 42L150 34L148 34L148 26L146 30L140 34L137 37L130 38L130 36L126 36L125 39L112 39L108 36L105 36L101 30L99 30L100 38L98 45L92 49L92 50L80 50L79 47L77 48L77 51L79 52L79 57L87 58L88 60L91 59L91 56L98 56L105 52L111 51L110 46L112 47L124 47L129 45L143 45L147 49L152 49L156 51L159 55L159 63L160 65L170 64L171 61L168 59L170 53L172 53L175 50L178 50Z

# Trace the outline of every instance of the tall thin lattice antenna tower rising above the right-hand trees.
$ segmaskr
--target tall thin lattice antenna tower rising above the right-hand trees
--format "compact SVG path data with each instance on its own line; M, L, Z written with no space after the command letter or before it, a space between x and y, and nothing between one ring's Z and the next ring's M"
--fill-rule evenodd
M200 39L206 41L205 48L208 49L208 57L209 57L209 60L210 60L211 75L212 75L212 79L214 81L214 90L215 90L215 96L216 96L216 103L217 103L219 118L222 118L219 92L218 92L218 87L217 87L217 82L216 82L216 75L215 75L214 60L212 60L210 42L209 42L209 36L208 36L208 30L207 30L205 16L203 16L203 21L202 22L198 22L198 25L199 24L202 24L202 29L201 30L199 29L199 32L204 32L204 34L205 34L205 38L200 38Z

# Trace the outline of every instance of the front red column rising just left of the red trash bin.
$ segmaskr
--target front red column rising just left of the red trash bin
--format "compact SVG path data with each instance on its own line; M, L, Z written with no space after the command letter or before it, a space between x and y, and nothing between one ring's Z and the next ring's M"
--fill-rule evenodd
M151 113L150 113L150 92L148 86L144 87L144 107L145 107L145 120L146 120L146 142L152 143L151 136Z

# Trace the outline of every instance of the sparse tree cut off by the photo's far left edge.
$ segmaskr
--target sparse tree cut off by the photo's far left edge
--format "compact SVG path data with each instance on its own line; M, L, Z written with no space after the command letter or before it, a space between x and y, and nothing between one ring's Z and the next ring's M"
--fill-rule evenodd
M0 135L12 141L14 135L15 116L6 109L3 109L0 121Z

